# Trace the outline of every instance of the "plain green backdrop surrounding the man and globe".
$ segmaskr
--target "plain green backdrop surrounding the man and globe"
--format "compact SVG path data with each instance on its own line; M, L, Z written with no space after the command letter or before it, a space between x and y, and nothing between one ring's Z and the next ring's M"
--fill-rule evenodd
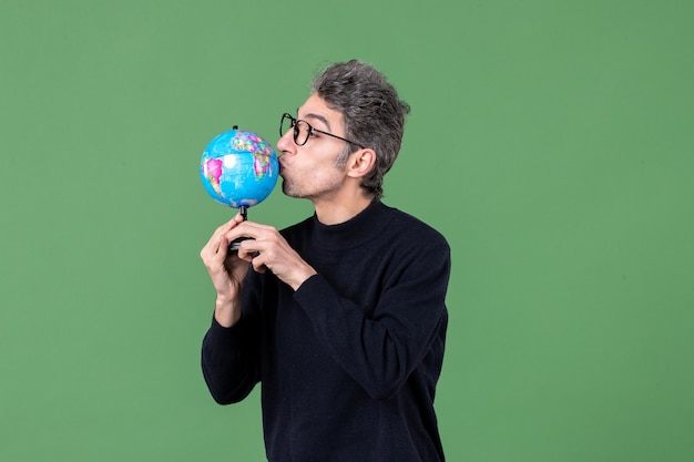
M452 247L448 459L694 460L693 4L0 0L0 460L265 460L200 372L197 165L350 58L412 106L385 202Z

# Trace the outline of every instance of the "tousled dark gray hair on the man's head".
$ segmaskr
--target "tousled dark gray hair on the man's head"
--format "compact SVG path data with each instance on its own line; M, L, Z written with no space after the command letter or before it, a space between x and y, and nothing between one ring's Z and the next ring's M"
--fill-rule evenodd
M374 168L363 178L361 187L369 196L380 198L384 176L400 151L410 106L400 100L382 73L357 60L331 64L314 79L310 90L343 113L345 137L376 152ZM338 165L344 165L355 151L350 144Z

